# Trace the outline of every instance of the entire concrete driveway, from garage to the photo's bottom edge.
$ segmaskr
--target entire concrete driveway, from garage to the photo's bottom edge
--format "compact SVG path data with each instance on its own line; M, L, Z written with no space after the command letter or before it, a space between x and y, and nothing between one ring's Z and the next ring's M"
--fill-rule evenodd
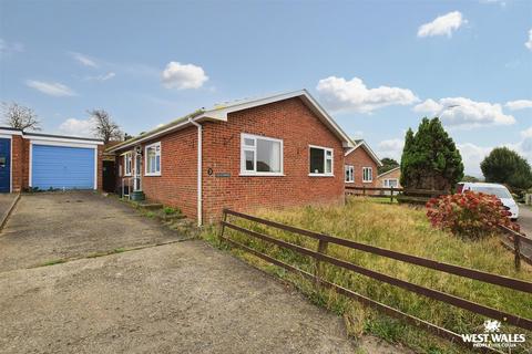
M168 232L100 196L23 196L0 236L0 352L357 350L340 317L200 240L24 268L175 239ZM399 352L372 337L361 343L368 353Z

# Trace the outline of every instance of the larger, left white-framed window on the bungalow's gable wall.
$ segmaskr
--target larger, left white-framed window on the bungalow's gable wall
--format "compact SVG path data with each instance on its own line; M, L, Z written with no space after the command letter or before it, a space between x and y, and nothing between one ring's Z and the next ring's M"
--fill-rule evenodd
M283 140L243 133L241 176L283 176Z

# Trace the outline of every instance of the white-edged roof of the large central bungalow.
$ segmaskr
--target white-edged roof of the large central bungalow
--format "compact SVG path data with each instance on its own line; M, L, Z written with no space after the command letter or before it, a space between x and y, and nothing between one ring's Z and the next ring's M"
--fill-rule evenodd
M306 91L299 90L294 92L287 92L282 94L275 94L263 97L245 98L232 102L224 102L214 105L212 108L201 108L191 114L174 119L167 124L156 127L152 131L143 133L134 138L127 139L121 144L114 145L108 149L108 152L116 152L135 144L155 138L157 136L171 133L173 131L181 129L185 126L192 125L194 122L204 121L227 121L227 115L232 112L247 110L268 103L284 101L293 97L300 97L303 102L320 118L320 121L344 143L345 147L354 147L356 144L347 136L347 134L338 126L332 117L318 104L318 102Z

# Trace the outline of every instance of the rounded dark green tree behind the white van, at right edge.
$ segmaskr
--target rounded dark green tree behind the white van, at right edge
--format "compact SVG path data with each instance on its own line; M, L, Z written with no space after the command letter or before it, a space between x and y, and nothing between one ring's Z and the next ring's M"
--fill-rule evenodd
M480 164L485 181L508 185L512 190L532 187L530 164L508 147L497 147Z

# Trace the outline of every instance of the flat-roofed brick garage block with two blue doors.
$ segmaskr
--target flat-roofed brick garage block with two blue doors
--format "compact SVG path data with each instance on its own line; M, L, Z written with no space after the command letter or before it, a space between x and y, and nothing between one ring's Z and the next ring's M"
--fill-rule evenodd
M0 191L101 189L103 142L0 127Z

